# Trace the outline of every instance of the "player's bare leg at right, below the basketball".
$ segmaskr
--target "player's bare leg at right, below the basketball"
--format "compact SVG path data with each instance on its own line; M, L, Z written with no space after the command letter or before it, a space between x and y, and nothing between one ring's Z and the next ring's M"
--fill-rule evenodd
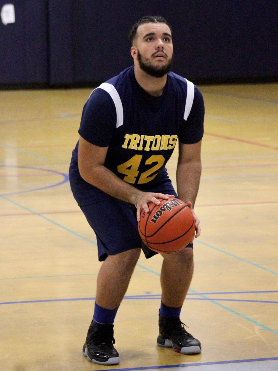
M193 249L185 249L162 254L164 260L161 269L161 301L167 306L182 306L193 276Z

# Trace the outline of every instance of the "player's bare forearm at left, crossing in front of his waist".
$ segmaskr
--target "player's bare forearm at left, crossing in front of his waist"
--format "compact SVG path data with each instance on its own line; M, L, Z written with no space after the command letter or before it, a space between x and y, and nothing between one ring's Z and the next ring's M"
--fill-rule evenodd
M135 203L135 198L138 197L139 194L143 193L132 185L121 180L104 165L87 169L81 173L81 176L86 180L86 182L101 189L103 192L110 194L110 196L132 204Z

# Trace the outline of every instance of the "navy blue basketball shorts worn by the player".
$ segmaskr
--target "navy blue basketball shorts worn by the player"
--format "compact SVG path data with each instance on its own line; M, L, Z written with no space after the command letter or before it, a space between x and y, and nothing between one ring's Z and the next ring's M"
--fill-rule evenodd
M89 184L87 183L87 185ZM109 196L100 190L97 190L97 194L102 192L103 197L100 197L99 201L94 199L92 203L88 203L88 189L86 191L87 201L82 202L84 198L80 197L82 195L80 183L70 177L70 186L80 209L96 234L100 262L105 260L108 255L116 255L136 248L142 248L147 259L157 254L145 246L140 239L134 205ZM92 193L93 188L95 187L92 187ZM146 192L173 194L177 197L168 175L163 182L158 184L156 189L146 190ZM188 247L193 247L193 244L189 244Z

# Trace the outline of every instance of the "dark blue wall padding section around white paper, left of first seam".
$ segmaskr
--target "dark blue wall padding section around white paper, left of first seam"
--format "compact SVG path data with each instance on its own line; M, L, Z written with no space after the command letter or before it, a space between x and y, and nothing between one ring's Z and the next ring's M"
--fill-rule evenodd
M0 0L13 3L16 22L0 22L0 83L47 83L47 2Z

